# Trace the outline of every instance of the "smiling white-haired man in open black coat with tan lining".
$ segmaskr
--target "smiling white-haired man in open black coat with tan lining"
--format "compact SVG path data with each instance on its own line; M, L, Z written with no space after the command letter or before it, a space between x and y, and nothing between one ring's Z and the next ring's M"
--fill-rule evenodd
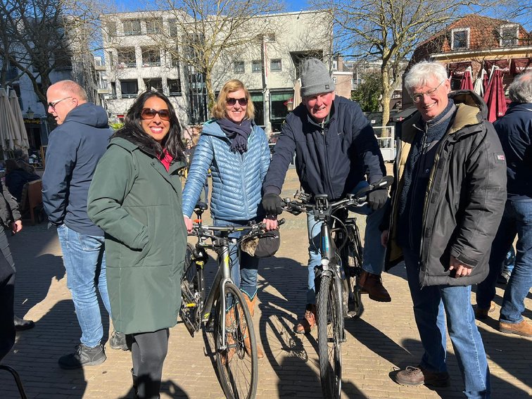
M486 120L486 103L473 91L451 93L443 65L418 63L404 84L418 112L398 132L390 224L382 241L387 269L405 260L424 355L395 381L449 384L447 321L465 395L489 398L488 362L470 296L471 284L488 274L506 199L505 156Z

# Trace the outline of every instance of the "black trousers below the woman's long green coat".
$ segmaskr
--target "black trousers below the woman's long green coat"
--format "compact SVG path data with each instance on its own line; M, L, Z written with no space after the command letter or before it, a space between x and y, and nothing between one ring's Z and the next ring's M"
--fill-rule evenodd
M163 363L168 353L168 329L131 334L133 379L137 384L139 399L158 399Z

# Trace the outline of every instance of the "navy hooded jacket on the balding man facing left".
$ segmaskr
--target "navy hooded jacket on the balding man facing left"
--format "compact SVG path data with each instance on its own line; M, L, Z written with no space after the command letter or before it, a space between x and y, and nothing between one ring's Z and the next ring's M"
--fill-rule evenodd
M64 223L76 232L103 236L103 230L87 216L87 195L111 134L106 110L93 103L70 110L63 124L51 132L42 201L52 224Z

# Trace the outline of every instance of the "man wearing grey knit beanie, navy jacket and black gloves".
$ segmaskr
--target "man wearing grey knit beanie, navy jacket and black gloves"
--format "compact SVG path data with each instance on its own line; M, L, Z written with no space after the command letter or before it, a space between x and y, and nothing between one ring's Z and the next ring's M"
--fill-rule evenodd
M327 66L317 58L301 65L303 101L286 117L274 147L272 162L263 184L262 207L267 215L279 215L283 201L279 194L290 160L296 154L296 171L305 193L327 194L329 201L345 198L362 187L379 182L386 175L384 160L372 126L357 103L334 94L334 82ZM391 301L381 281L384 247L379 224L388 192L372 191L368 205L355 212L368 215L364 260L360 284L369 298ZM315 326L316 295L314 267L320 265L321 224L308 215L309 262L305 316L296 332L306 334Z

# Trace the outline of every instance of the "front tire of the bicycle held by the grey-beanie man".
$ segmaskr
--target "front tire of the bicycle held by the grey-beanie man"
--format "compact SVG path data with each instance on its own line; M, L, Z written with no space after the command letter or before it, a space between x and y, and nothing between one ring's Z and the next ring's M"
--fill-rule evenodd
M334 279L322 274L317 298L319 377L325 398L340 398L343 327L340 293Z

